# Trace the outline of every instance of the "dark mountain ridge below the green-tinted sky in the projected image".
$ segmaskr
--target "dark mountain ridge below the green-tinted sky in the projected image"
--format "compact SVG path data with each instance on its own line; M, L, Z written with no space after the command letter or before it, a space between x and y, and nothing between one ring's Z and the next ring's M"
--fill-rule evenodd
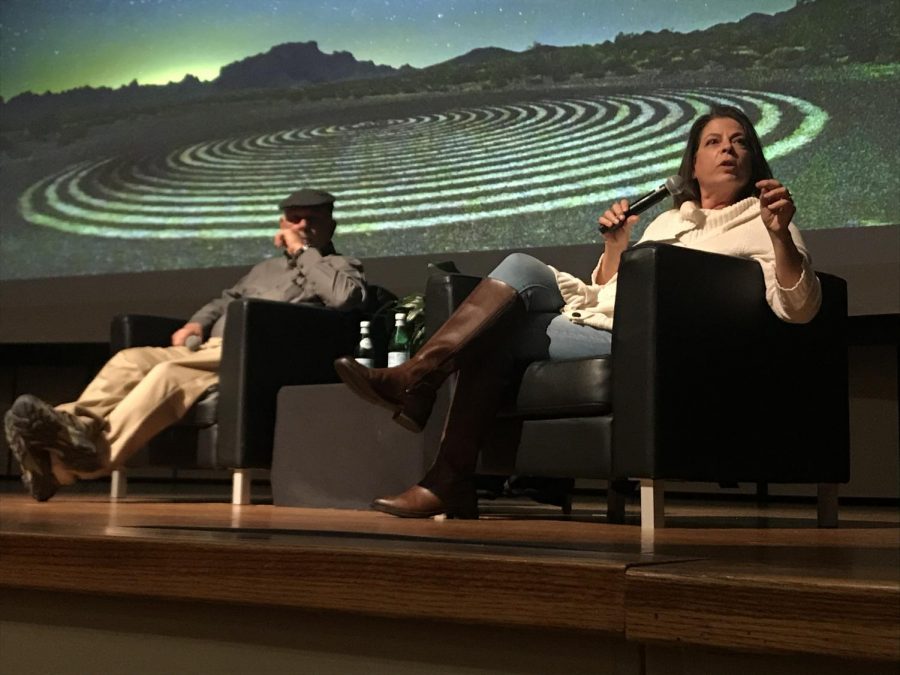
M322 52L315 41L285 43L223 66L218 78L192 75L166 85L132 81L117 89L78 87L61 93L25 92L0 99L0 132L28 128L50 137L73 120L104 119L217 97L255 96L282 90L309 100L364 98L480 87L565 82L574 77L609 81L635 75L686 76L695 72L900 62L900 2L797 0L776 14L749 14L687 33L671 30L620 33L597 44L535 44L516 52L482 47L432 66L393 68L359 61L350 52ZM302 90L302 91L294 91Z

